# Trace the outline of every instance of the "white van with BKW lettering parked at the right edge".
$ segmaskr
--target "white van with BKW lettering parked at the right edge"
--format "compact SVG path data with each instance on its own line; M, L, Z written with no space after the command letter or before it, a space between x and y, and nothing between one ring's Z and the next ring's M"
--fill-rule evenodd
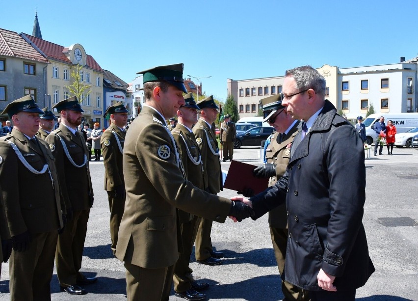
M396 133L405 133L413 128L418 127L418 113L377 113L368 115L363 121L366 126L366 143L374 143L378 134L373 130L374 124L379 121L380 116L385 118L385 124L388 125L388 120L392 120L396 127Z

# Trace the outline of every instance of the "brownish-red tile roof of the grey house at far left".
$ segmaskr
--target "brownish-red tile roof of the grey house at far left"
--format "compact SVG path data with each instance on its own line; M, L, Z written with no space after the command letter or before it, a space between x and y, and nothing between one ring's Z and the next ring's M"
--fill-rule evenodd
M49 63L48 59L36 51L17 32L2 28L0 28L0 55Z

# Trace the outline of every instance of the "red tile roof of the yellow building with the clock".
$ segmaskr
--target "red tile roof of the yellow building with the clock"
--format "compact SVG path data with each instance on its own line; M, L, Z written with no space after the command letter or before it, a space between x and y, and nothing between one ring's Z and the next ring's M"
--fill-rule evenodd
M72 62L64 55L64 50L68 50L68 47L64 47L52 42L48 42L42 39L38 39L32 35L24 33L26 37L38 47L48 58L59 60L63 63L71 65ZM96 60L91 55L86 55L86 67L91 68L97 72L104 73L102 67L96 62Z

